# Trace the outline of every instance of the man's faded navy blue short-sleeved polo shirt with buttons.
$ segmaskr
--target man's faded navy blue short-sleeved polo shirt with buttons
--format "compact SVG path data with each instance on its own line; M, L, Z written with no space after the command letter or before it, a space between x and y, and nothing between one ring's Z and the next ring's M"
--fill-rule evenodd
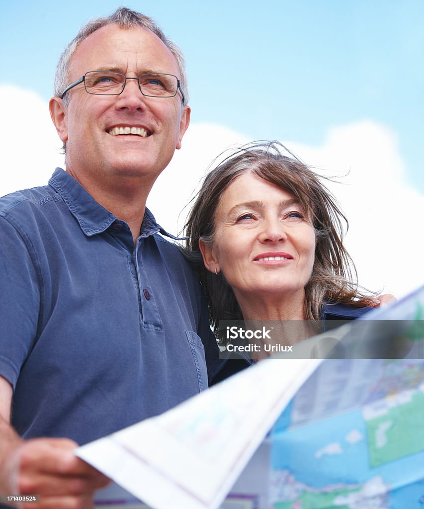
M146 210L128 225L57 168L0 199L0 375L24 438L83 444L159 414L219 370L206 299Z

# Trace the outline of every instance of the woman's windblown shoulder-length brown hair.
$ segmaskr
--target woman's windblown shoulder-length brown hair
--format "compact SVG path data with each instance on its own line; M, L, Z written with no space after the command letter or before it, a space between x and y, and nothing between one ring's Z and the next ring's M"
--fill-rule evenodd
M315 263L305 287L304 314L319 320L322 304L369 304L359 291L356 269L343 245L343 226L348 221L334 196L318 176L278 142L256 142L225 158L206 176L185 224L187 256L194 262L206 291L215 333L219 320L240 320L241 310L225 277L209 272L202 259L199 239L213 243L215 214L220 197L240 175L251 172L295 196L316 232Z

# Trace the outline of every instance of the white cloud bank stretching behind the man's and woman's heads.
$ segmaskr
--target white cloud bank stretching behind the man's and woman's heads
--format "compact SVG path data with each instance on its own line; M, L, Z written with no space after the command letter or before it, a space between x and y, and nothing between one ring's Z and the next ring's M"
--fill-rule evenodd
M48 114L36 94L16 87L0 87L3 122L0 140L3 176L0 195L18 188L42 185L57 165L63 166L61 145ZM183 148L159 177L148 206L164 228L176 233L177 218L187 205L213 158L225 148L250 140L225 127L192 124ZM424 282L421 252L424 196L410 185L395 135L372 121L336 127L321 147L282 140L307 164L325 175L349 175L329 187L342 203L350 222L346 245L359 282L397 297Z

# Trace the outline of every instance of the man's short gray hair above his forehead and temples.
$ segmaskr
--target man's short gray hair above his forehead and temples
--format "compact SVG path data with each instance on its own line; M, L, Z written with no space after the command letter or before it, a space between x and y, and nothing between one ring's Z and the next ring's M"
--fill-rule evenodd
M150 30L155 35L157 35L157 37L159 37L159 39L165 44L165 46L169 49L169 51L171 51L177 60L181 77L181 89L185 98L184 104L187 104L187 74L185 70L184 55L181 49L173 41L165 36L160 27L153 21L152 18L149 18L144 14L140 14L139 12L132 11L127 7L120 7L110 16L93 19L81 27L78 34L68 44L68 46L65 48L65 51L62 53L61 58L59 59L58 66L56 67L56 75L54 77L54 95L56 97L61 97L63 91L69 84L69 65L72 55L74 54L74 51L78 45L93 32L96 32L96 30L99 30L102 26L109 24L117 24L121 28L125 29L139 26L141 28ZM65 106L68 104L68 101L69 96L66 94L63 98Z

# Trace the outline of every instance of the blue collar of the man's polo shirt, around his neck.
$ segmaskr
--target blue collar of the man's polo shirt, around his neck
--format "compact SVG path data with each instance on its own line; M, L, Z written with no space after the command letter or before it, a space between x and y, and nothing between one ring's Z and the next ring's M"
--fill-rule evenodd
M104 232L117 220L114 214L96 202L93 196L64 169L56 168L48 183L62 196L71 214L78 221L81 230L88 237ZM140 237L149 237L158 232L174 240L183 240L166 232L157 224L153 214L146 208Z

